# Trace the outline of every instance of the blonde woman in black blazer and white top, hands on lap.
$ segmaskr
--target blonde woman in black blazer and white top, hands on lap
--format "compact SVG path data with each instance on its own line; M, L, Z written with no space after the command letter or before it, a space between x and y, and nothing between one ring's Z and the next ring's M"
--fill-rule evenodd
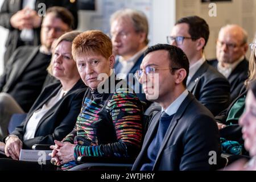
M19 159L22 148L54 144L75 126L86 90L71 53L72 41L79 34L68 32L57 40L48 72L60 82L43 90L26 119L4 139L6 156Z

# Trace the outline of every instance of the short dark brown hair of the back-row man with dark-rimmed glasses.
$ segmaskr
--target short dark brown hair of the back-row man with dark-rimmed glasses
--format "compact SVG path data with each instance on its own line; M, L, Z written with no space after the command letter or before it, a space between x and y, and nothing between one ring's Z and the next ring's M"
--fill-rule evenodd
M207 45L210 31L209 31L209 25L203 18L200 18L199 16L186 16L177 20L175 25L180 23L188 24L189 26L188 33L189 35L191 35L192 40L204 38L205 40L204 47Z

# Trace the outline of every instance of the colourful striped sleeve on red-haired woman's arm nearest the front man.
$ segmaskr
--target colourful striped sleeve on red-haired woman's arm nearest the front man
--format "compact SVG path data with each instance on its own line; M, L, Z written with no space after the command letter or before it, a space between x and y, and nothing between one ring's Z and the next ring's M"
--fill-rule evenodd
M117 89L108 101L117 142L91 146L76 145L78 156L137 156L142 143L142 105L129 89Z

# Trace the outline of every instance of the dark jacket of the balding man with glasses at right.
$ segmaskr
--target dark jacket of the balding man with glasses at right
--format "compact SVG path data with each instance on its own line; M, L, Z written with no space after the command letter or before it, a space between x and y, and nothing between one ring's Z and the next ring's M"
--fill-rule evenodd
M218 60L208 61L210 65L217 69ZM232 71L228 80L230 83L230 97L231 101L237 98L241 92L245 80L248 78L249 62L247 59L243 59L241 63Z

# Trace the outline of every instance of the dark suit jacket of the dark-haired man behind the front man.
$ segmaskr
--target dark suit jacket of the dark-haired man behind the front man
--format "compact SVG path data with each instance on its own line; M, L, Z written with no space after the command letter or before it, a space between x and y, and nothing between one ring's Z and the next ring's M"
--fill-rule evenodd
M193 75L187 85L187 89L213 115L217 115L229 106L229 81L207 62L201 65Z

